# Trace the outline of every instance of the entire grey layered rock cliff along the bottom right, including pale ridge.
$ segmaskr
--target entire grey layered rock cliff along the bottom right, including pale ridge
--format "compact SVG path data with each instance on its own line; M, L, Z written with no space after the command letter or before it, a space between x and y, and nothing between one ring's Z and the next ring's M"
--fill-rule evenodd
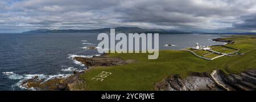
M178 75L164 78L155 83L155 90L256 90L256 70L248 70L241 75L226 75L220 70L214 70L210 75L206 73L192 73L187 78Z

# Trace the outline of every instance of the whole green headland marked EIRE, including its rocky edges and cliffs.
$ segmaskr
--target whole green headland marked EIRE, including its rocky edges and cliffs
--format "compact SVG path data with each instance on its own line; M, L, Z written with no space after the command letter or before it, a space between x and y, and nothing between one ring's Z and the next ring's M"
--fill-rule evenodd
M44 90L256 90L256 36L214 40L232 42L225 46L239 51L214 60L183 50L160 50L156 60L148 60L147 54L75 57L89 69L67 79L46 84L34 79L24 85Z

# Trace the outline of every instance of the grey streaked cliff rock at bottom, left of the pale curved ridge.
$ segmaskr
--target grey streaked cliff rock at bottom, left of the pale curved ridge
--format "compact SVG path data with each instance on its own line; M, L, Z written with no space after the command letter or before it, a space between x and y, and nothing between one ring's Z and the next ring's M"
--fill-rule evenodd
M193 73L187 78L180 78L178 75L170 76L163 81L155 83L155 90L163 91L202 91L202 90L221 90L214 81L208 76L200 73Z

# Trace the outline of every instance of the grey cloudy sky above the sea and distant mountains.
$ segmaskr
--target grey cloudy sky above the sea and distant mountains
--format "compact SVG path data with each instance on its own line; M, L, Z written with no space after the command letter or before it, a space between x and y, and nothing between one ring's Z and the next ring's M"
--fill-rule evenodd
M0 32L138 26L256 32L255 0L1 0Z

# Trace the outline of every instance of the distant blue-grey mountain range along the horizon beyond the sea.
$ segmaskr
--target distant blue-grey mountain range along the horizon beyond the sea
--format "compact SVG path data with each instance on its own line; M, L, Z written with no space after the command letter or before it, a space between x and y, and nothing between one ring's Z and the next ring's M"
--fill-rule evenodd
M111 28L103 29L89 29L89 30L50 30L50 29L37 29L30 30L28 32L22 33L110 33ZM117 27L115 28L115 33L159 33L159 34L256 34L251 32L246 33L207 33L207 32L182 32L179 30L163 30L163 29L142 29L138 27Z

